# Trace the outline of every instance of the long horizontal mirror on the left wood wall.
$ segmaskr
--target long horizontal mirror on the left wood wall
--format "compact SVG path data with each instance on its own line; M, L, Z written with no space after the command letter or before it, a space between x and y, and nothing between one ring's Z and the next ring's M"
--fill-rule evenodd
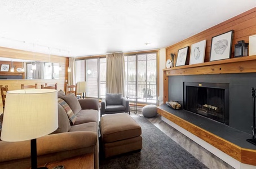
M6 65L5 71L0 73L11 73L11 68L14 68L14 73L23 73L23 78L11 77L8 75L0 75L2 79L59 79L59 63L47 63L41 61L11 59L0 57L0 65ZM4 77L5 76L5 77Z

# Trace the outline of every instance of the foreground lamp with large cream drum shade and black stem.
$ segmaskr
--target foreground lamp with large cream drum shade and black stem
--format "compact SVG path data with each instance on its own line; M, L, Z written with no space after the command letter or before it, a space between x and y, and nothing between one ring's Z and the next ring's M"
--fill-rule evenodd
M1 139L30 140L32 169L37 168L37 138L58 128L57 98L57 91L51 89L7 92Z

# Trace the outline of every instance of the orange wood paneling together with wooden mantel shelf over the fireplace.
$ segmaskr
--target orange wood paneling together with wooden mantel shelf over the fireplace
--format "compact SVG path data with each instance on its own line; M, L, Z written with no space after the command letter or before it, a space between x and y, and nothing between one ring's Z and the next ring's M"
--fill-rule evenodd
M220 74L220 73L250 73L256 72L255 56L233 58L234 45L237 41L244 40L249 43L249 36L256 34L256 7L249 11L246 11L240 15L232 17L229 20L224 21L218 25L215 25L209 29L204 30L198 34L193 35L181 42L171 45L166 48L166 60L170 59L170 54L175 53L174 63L178 50L180 48L189 46L188 56L185 66L179 66L170 69L164 69L164 101L168 99L168 83L165 78L168 75L191 75L191 74ZM210 50L211 50L211 38L216 35L234 30L233 41L232 41L232 59L210 61ZM193 43L200 42L206 39L206 51L205 60L202 64L189 65L190 47ZM249 45L250 47L250 45ZM175 65L175 64L174 64Z

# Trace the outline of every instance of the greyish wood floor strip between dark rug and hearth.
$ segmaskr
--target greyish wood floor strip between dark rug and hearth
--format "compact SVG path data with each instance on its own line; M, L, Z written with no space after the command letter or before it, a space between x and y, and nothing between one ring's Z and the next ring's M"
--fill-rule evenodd
M137 111L139 115L142 115L141 112ZM134 116L136 114L131 114ZM183 135L175 128L171 127L169 124L165 123L161 120L161 115L157 114L156 117L147 118L149 122L154 124L157 128L159 128L162 132L164 132L167 136L173 139L176 143L186 149L189 153L191 153L194 157L196 157L199 161L205 164L205 166L209 168L218 168L218 169L231 169L232 166L229 166L226 162L222 161L222 159L216 157L214 154L210 153L208 150L202 148L202 146L195 143L195 141L189 139L187 136Z

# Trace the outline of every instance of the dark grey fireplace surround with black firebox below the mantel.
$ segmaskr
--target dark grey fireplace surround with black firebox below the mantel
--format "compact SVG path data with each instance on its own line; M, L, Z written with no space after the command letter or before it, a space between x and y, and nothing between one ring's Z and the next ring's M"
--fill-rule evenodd
M213 117L214 120L251 134L253 118L251 87L256 87L256 73L171 75L168 77L168 85L169 100L178 101L184 110L205 117L208 117L208 114L222 113L224 120L219 119L222 117L221 114L217 115L217 118ZM214 85L217 86L214 87ZM193 106L186 101L188 97L186 86L192 87L192 93L199 92L201 95L193 99ZM216 88L217 91L215 91ZM213 96L209 94L212 89L217 94ZM214 99L209 100L208 96ZM223 96L224 100L219 96ZM217 100L218 104L213 100L215 102Z

